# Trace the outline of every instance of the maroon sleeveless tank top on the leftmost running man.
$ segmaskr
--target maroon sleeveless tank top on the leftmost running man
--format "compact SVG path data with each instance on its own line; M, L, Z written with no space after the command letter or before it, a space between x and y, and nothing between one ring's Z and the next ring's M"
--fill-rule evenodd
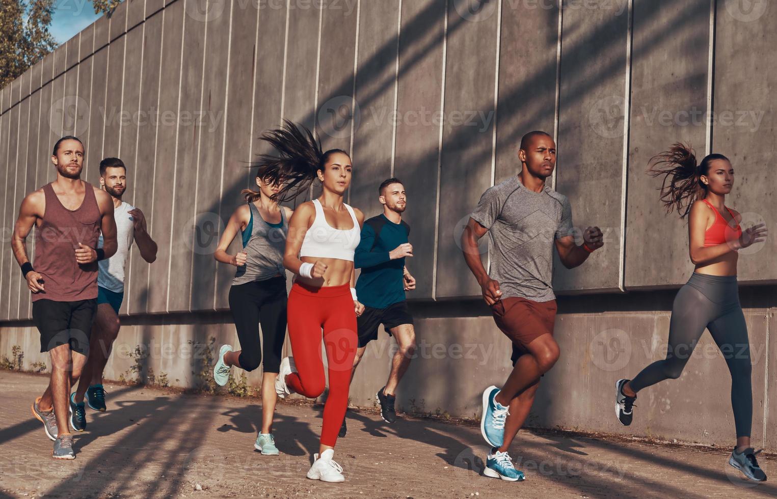
M83 181L82 181L83 182ZM97 262L75 261L78 243L97 248L101 216L94 187L84 183L84 200L77 210L60 202L51 184L44 185L46 210L35 232L35 272L43 275L45 291L32 300L78 301L97 297Z

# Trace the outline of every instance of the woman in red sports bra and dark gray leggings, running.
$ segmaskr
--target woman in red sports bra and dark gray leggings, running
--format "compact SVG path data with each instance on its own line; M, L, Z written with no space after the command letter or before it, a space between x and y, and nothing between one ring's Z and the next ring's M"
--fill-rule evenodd
M695 269L674 298L666 359L653 362L634 379L615 383L615 414L621 424L631 424L636 393L664 379L680 377L699 338L709 329L731 374L737 444L729 464L750 480L766 480L750 444L750 342L737 289L737 251L765 241L765 225L743 232L739 213L726 207L726 194L733 187L733 168L722 154L709 154L697 165L691 147L674 144L650 163L650 174L664 177L661 200L667 213L673 209L681 217L690 213L689 252Z

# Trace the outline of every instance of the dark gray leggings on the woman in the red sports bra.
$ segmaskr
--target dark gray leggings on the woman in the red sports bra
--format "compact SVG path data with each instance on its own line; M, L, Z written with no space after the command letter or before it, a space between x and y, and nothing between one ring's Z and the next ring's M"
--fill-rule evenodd
M705 327L713 335L731 373L731 405L738 437L749 437L753 419L750 343L739 303L736 275L693 273L674 298L667 358L653 362L629 383L638 392L680 377Z

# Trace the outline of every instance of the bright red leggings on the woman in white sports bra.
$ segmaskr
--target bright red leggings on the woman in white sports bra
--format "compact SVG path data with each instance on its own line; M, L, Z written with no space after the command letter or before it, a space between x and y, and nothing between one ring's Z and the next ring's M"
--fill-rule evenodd
M297 373L286 376L286 383L308 398L319 397L326 386L321 355L321 329L324 330L329 396L324 405L321 443L334 447L348 407L350 373L357 348L356 312L350 284L316 288L295 282L287 310Z

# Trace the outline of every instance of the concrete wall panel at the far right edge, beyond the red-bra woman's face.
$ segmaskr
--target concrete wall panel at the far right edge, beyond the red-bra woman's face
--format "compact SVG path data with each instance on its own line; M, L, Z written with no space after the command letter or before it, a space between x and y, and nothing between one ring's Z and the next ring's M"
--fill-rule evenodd
M773 60L777 41L777 5L717 5L712 150L726 155L735 172L726 206L742 214L742 227L765 223L772 231L764 244L740 251L737 275L740 282L775 279L777 269L769 264L777 248L777 200L770 188L774 183L771 165L777 157L772 139L777 131L777 106L772 97L777 69L767 61Z

